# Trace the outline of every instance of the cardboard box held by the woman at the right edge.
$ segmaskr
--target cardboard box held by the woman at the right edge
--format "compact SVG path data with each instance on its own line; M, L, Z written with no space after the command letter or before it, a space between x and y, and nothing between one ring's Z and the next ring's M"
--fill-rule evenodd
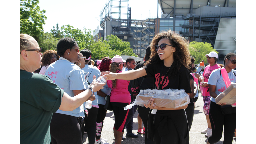
M234 104L236 102L236 83L232 83L224 92L220 93L215 101L216 104Z

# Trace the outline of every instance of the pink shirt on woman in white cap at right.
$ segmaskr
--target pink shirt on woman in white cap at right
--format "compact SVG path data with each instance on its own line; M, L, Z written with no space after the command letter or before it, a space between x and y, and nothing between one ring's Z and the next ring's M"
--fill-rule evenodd
M213 66L210 66L210 65L206 66L203 73L204 82L208 82L209 76L212 73L212 71L218 68L221 68L218 64L215 64ZM209 86L203 87L202 96L210 96L210 93L207 92L208 89L209 89Z

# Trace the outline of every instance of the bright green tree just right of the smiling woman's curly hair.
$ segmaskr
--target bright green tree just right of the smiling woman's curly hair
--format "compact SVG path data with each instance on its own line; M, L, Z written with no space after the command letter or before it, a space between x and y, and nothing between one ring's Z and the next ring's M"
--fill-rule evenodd
M189 52L190 55L195 58L195 64L199 64L202 60L204 60L204 63L207 63L207 58L205 55L209 54L211 51L217 52L212 48L212 45L207 42L203 43L192 41L189 43L189 46Z

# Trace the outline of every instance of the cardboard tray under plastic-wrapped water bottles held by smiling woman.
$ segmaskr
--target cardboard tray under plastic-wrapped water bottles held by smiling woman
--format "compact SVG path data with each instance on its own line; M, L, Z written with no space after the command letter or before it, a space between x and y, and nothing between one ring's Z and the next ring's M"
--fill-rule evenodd
M143 102L146 104L150 98L154 97L145 97L145 96L138 96ZM143 103L142 102L142 103ZM178 108L181 106L184 106L190 103L189 95L186 97L183 97L181 99L171 100L171 99L160 99L160 98L154 98L154 102L156 106L160 107L166 107L166 108Z

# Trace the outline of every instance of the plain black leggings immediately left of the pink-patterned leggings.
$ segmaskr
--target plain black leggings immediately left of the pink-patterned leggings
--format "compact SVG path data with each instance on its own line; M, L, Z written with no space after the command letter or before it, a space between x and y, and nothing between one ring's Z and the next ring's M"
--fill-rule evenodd
M84 122L84 129L87 131L89 144L94 144L96 137L96 118L98 114L98 108L92 106L92 108L87 109L87 111L88 117Z

